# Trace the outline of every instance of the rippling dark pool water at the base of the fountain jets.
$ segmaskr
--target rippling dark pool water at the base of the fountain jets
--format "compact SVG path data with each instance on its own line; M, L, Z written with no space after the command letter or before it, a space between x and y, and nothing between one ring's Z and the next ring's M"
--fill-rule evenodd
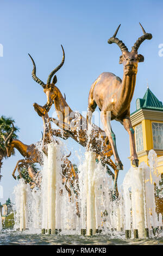
M0 235L0 245L163 245L163 237L126 240L109 235L40 235L18 231L4 231Z

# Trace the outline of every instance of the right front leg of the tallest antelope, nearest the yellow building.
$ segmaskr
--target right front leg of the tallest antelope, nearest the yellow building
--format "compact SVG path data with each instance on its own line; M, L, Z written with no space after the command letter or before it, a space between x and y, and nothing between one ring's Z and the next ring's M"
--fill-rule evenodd
M130 138L130 146L131 146L131 160L132 164L136 167L139 166L139 160L137 159L136 148L135 148L135 136L134 129L131 125L131 121L129 117L123 119L123 126L128 131Z

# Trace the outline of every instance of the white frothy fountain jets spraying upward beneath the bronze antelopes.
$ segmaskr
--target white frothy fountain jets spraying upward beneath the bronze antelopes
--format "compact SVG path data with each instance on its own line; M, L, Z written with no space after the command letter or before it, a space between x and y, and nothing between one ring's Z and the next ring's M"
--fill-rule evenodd
M159 175L155 175L154 151L149 152L150 167L141 163L139 168L130 168L117 199L112 194L112 178L102 164L95 161L95 153L85 153L85 160L78 167L80 218L76 214L77 199L71 186L70 200L62 184L62 147L49 144L48 153L41 171L41 189L31 191L23 179L15 187L15 230L26 230L29 236L33 234L43 239L46 234L57 235L60 241L65 236L74 237L78 242L82 239L81 244L86 239L90 242L99 239L100 243L104 237L110 241L138 237L145 241L145 237L149 237L152 241L150 239L162 236L162 216L155 212L154 182L157 184ZM39 235L41 230L42 236Z

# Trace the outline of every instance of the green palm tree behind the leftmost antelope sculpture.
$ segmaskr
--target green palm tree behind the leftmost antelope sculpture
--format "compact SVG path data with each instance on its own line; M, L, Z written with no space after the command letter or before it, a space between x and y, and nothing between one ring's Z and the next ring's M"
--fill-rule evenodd
M11 132L12 129L12 124L15 123L15 120L12 118L8 118L8 117L4 117L4 115L2 115L2 117L0 117L0 180L1 180L1 167L2 167L2 160L3 158L7 157L7 151L4 147L4 138L7 138L7 136L9 135L9 133ZM14 132L11 135L11 138L17 138L16 132L18 131L18 127L14 127ZM14 154L14 151L12 153L12 155Z

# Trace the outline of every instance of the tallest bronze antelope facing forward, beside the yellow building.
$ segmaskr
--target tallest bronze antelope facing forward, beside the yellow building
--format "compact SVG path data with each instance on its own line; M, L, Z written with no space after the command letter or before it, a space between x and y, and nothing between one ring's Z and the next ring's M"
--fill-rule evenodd
M123 169L123 164L117 153L115 134L111 129L110 121L107 120L107 113L111 112L111 120L115 119L120 121L128 131L131 147L131 160L136 167L139 166L139 160L137 159L135 149L134 130L130 121L130 102L133 98L135 89L137 65L144 60L144 57L141 54L138 54L137 50L144 40L152 39L152 34L146 33L145 29L143 29L140 24L143 35L137 39L132 50L129 52L126 45L116 38L120 26L118 26L115 34L108 40L108 44L115 43L121 49L122 55L120 56L119 63L123 64L123 79L121 80L120 77L117 77L110 72L103 72L99 75L91 86L87 110L87 124L89 125L91 123L92 113L95 111L96 106L99 107L101 111L101 120L107 135L106 142L109 140L111 143L117 169Z

